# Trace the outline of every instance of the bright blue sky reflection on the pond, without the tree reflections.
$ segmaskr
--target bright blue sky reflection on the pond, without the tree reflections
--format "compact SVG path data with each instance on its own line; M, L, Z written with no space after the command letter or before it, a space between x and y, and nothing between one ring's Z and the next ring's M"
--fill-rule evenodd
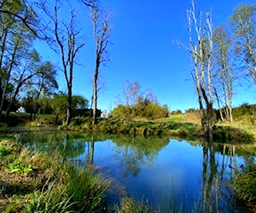
M87 150L87 146L85 150ZM126 145L127 160L136 160L136 155L132 155L131 149ZM88 152L88 151L85 151ZM153 158L153 162L148 164L143 160L138 160L136 166L139 171L136 176L132 174L124 176L125 147L116 147L112 141L95 142L94 164L110 169L110 174L119 182L125 185L126 191L135 199L148 199L154 206L165 205L166 203L183 204L189 210L189 206L201 202L202 173L203 173L203 147L192 146L187 141L170 140L166 147ZM78 158L83 161L86 155ZM208 161L209 161L208 155ZM218 170L224 162L224 179L230 179L232 169L230 169L229 156L215 153L215 163ZM223 161L224 160L224 161ZM243 164L243 158L236 157L236 164ZM210 165L207 164L210 168ZM131 167L132 168L132 167ZM207 169L207 176L210 169ZM214 185L214 184L213 184ZM214 187L214 186L213 186ZM213 188L212 187L212 188ZM214 190L214 189L213 189ZM175 201L174 201L175 200ZM223 202L226 203L226 202ZM226 210L224 210L226 211Z

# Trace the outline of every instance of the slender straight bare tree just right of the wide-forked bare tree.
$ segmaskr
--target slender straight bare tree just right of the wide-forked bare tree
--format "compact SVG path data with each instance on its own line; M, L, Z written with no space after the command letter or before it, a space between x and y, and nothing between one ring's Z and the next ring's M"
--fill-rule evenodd
M98 98L97 82L102 64L108 61L108 43L111 31L110 15L108 10L102 10L98 7L91 9L90 19L92 20L94 29L94 39L96 42L96 64L93 76L93 112L92 112L92 124L96 124L96 108Z

